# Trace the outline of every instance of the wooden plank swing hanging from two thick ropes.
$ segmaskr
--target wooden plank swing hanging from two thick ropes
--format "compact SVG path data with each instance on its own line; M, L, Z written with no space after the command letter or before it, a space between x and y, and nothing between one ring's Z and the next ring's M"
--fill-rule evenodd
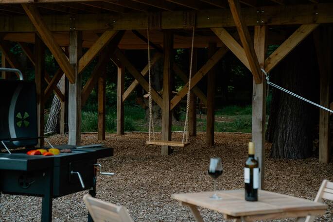
M184 124L183 138L182 141L172 141L172 140L156 140L155 130L153 122L153 109L152 109L152 93L151 93L151 78L150 78L150 46L149 46L149 27L147 28L147 43L148 43L148 78L149 78L149 139L146 144L149 145L162 145L162 146L175 146L175 147L186 147L190 145L189 140L189 109L190 109L190 97L191 97L191 78L192 78L192 64L193 64L193 43L194 43L194 27L195 27L195 13L189 13L187 15L189 21L187 21L190 26L193 27L192 31L192 46L191 46L191 61L190 61L190 74L189 74L189 91L187 92L187 102L186 102L186 118ZM185 26L185 22L184 22ZM153 135L153 139L151 139Z

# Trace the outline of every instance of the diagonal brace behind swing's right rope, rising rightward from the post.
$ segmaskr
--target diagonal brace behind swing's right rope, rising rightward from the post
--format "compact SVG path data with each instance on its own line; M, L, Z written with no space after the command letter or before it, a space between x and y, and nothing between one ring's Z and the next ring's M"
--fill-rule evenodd
M193 87L198 84L198 82L208 73L210 68L214 67L214 65L227 53L227 51L227 47L221 47L218 51L215 52L212 57L210 57L207 63L203 67L201 67L199 71L197 71L192 77L191 89L193 89ZM175 106L187 94L188 87L189 84L185 84L184 87L177 93L177 95L174 96L174 98L171 100L171 109L175 108Z

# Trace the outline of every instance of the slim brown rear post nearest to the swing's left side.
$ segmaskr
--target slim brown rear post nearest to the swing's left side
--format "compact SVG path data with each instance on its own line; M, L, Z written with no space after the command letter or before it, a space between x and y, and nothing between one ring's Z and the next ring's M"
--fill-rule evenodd
M125 68L118 67L117 77L117 134L124 134L124 104L123 92L125 87Z

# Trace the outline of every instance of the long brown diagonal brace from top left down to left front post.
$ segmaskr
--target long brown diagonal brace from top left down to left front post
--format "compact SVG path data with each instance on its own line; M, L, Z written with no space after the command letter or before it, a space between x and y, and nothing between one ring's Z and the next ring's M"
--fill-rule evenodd
M74 70L70 66L70 63L61 50L59 45L56 43L53 34L47 27L46 23L40 16L38 10L35 6L31 4L22 4L23 9L27 13L28 17L30 18L31 22L34 24L36 30L40 34L41 39L43 39L45 45L50 49L52 52L55 60L59 64L60 68L65 72L67 78L69 79L70 83L74 83Z

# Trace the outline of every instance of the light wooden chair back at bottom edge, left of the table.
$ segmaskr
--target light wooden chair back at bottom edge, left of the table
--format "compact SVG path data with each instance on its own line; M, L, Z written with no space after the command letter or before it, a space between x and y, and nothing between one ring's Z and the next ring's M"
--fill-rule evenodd
M83 197L94 222L133 222L128 211L123 206L107 203L86 194Z

